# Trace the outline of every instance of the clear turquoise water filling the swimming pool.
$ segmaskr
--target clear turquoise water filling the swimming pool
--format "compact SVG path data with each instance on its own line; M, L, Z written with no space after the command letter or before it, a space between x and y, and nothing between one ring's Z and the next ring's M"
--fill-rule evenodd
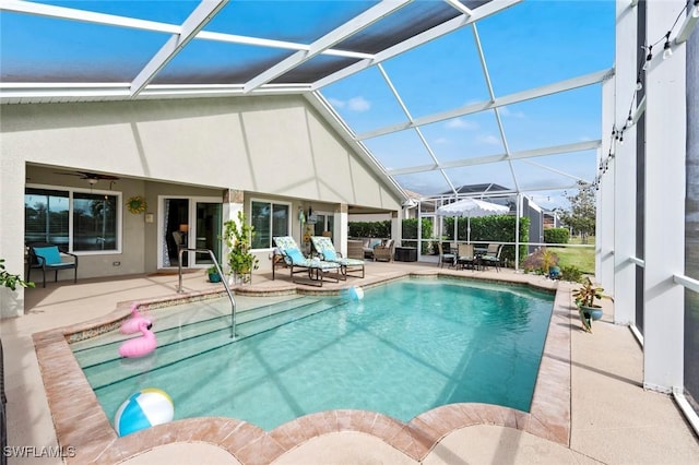
M158 348L144 359L119 359L114 335L74 353L110 419L151 386L169 393L176 419L268 430L335 408L404 421L459 402L529 412L552 309L553 296L521 287L406 279L360 301L304 297L241 312L233 343L224 310L169 329L156 321Z

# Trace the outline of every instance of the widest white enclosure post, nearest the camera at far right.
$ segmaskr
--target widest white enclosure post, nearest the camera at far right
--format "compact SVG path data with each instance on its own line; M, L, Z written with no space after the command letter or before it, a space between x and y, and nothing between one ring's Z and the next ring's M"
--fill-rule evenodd
M647 2L649 43L667 33L684 5ZM645 75L643 388L670 392L684 383L685 291L673 275L683 273L685 257L686 47L667 60L655 48Z

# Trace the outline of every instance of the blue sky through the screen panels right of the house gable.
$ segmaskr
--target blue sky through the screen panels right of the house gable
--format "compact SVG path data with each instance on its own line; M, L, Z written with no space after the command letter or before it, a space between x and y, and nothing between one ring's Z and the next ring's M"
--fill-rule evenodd
M525 1L477 23L486 65L497 96L572 79L614 64L614 1ZM387 74L413 118L489 99L471 28L428 43L383 63ZM381 74L371 68L322 90L358 133L406 121ZM500 110L511 152L599 140L601 86L522 102ZM423 127L440 162L503 152L494 111ZM389 169L429 165L431 158L413 130L365 140ZM533 163L592 180L595 153L572 153ZM520 186L538 179L560 183L569 178L517 162ZM512 188L506 164L471 166L449 171L455 186L500 182ZM399 177L407 189L434 194L446 189L435 172ZM561 204L561 192L542 192L544 206ZM562 202L565 203L565 202Z

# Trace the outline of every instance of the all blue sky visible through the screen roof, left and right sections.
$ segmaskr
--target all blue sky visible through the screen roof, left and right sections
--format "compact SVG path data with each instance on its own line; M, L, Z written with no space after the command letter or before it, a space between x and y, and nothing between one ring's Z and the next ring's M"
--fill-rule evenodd
M188 0L39 2L169 24L185 21L198 4L198 1ZM309 44L340 26L343 19L375 3L359 0L233 0L205 29ZM496 97L612 68L614 8L613 0L526 0L477 22ZM28 74L47 82L129 82L169 37L165 33L9 12L0 14L0 64L4 81L22 81L17 76ZM201 65L213 70L210 76L213 74L214 78L218 71L223 74L236 68L240 68L241 73L254 75L264 69L264 63L280 61L291 52L193 40L157 79L175 81L182 70L194 70L192 73L197 75L197 67ZM381 65L413 118L489 99L471 27L427 43ZM406 121L377 67L325 86L321 93L355 133ZM603 136L599 84L510 105L500 109L500 117L509 150L513 153ZM440 162L477 158L505 151L491 110L439 121L423 127L422 131ZM433 164L413 130L364 142L388 169ZM541 165L588 180L596 174L593 151L534 158L531 163L516 162L522 188L542 180L554 184L570 182L569 178ZM514 187L506 163L454 168L448 174L454 186L497 182ZM406 189L423 194L448 190L437 172L396 179ZM555 206L553 203L559 201L559 195L560 192L545 192L538 198L544 206ZM549 202L548 198L554 200Z

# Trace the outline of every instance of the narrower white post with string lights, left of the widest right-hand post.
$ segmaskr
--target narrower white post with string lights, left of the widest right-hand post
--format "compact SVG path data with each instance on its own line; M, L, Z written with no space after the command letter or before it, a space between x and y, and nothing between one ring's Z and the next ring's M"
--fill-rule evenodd
M614 122L617 129L628 117L630 99L637 81L638 8L616 2L616 64ZM606 106L603 104L606 110ZM620 126L619 126L620 124ZM611 138L611 126L602 128L603 138ZM614 322L630 324L636 320L636 126L624 132L624 144L614 151Z

